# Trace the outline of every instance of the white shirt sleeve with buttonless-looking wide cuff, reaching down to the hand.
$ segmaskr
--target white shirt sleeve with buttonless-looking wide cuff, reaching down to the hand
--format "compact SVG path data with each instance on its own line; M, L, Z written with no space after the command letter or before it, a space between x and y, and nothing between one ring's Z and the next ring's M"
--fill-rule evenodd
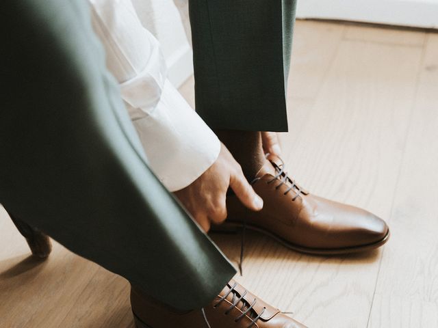
M159 43L131 0L88 1L151 169L170 191L187 187L216 161L218 137L168 81Z

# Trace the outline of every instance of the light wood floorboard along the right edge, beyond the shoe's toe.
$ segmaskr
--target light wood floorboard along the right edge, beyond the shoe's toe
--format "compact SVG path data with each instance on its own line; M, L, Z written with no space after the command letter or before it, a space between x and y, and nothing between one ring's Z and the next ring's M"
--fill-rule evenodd
M438 327L437 59L429 34L369 327Z

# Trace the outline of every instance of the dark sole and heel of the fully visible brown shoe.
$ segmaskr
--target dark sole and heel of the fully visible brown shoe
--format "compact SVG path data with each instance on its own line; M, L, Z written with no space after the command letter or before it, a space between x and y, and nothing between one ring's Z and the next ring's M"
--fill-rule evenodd
M218 232L218 233L237 233L241 231L243 228L243 223L235 223L235 222L227 222L225 221L220 226L214 226L211 228L211 232ZM246 229L253 230L256 232L259 232L261 234L265 234L266 236L269 236L270 238L273 238L275 241L281 243L281 245L292 249L293 251L298 251L300 253L304 254L311 254L311 255L342 255L342 254L351 254L351 253L359 253L362 251L370 251L372 249L376 249L378 247L381 247L384 245L390 236L389 229L385 237L383 237L380 241L376 241L374 243L366 244L366 245L360 245L360 246L354 246L354 247L343 247L343 248L309 248L309 247L302 247L295 245L294 243L290 243L289 241L286 241L285 239L276 236L275 234L272 234L271 232L268 232L267 230L258 228L257 226L253 226L251 224L246 224Z

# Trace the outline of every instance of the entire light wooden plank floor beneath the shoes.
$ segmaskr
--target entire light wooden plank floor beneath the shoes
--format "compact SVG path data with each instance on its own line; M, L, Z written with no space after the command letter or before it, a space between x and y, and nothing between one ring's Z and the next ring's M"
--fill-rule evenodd
M438 34L299 21L288 102L289 172L392 236L321 258L249 234L237 280L309 327L438 327ZM3 210L0 231L1 328L133 327L124 279L60 245L29 258ZM214 239L237 263L239 236Z

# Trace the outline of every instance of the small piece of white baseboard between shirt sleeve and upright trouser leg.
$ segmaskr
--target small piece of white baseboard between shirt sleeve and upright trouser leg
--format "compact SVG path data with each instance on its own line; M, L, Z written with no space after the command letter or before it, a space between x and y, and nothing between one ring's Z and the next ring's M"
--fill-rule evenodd
M181 46L166 59L168 79L175 87L180 87L193 74L193 53L189 44Z

